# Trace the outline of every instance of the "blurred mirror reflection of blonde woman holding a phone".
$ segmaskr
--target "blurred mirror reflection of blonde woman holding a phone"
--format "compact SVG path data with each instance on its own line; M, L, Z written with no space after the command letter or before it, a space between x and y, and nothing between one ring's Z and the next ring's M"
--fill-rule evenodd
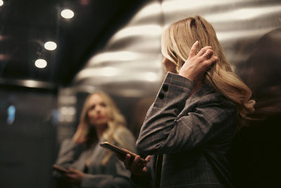
M115 154L99 146L107 141L131 151L135 149L133 134L125 127L124 116L110 96L95 92L85 101L80 124L72 139L60 147L57 164L70 169L58 175L60 184L80 187L131 187L130 173Z

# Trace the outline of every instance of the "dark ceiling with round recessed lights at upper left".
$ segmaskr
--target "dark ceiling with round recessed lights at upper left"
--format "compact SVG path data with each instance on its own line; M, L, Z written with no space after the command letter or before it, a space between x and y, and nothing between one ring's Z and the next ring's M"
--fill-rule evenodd
M72 82L87 59L138 10L143 0L4 0L0 6L0 84L37 82L56 89ZM74 11L72 19L60 16ZM44 49L56 42L54 51ZM34 61L44 58L46 68ZM43 83L43 85L42 85Z

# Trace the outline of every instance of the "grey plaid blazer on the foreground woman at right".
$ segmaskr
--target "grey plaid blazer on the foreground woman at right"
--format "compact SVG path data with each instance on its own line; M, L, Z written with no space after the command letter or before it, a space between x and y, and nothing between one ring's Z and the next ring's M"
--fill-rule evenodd
M237 108L209 84L190 96L193 86L168 73L148 110L136 142L141 155L152 155L148 178L155 183L155 156L162 154L160 187L233 187L226 153Z

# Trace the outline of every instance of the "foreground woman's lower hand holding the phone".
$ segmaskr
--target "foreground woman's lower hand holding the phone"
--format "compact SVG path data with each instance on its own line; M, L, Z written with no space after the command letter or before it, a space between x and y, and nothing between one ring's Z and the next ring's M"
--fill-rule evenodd
M127 170L130 170L132 174L143 176L146 175L146 167L145 165L150 160L150 156L145 158L146 163L141 163L141 157L136 156L131 162L131 155L127 154L125 158L121 158L121 156L117 156L120 161L122 161Z

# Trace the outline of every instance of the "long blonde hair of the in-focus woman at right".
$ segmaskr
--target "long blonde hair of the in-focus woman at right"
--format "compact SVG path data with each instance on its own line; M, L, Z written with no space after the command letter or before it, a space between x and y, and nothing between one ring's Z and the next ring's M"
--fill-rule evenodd
M230 68L216 32L210 23L200 15L185 18L171 24L162 35L162 54L176 64L179 71L188 59L190 48L198 40L197 53L204 46L211 46L218 61L206 73L206 80L214 88L237 104L242 118L254 112L255 101L251 89Z

